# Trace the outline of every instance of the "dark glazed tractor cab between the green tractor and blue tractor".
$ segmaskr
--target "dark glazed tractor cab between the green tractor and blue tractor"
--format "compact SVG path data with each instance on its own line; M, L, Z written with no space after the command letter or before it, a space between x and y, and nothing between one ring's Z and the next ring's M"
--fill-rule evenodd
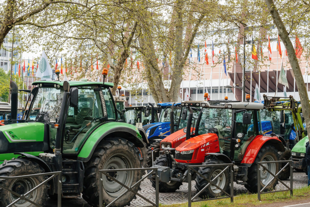
M127 123L142 128L142 126L158 122L158 107L148 103L148 106L128 106L126 109Z

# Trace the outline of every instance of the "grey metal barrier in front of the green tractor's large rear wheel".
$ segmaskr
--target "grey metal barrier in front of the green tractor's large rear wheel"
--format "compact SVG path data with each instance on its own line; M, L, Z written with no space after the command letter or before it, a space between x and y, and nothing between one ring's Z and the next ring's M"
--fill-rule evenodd
M115 172L115 171L137 171L137 170L148 170L148 173L146 175L144 175L144 177L142 177L138 182L136 182L134 185L132 186L126 186L124 185L122 182L119 182L117 179L113 178L112 176L110 176L108 174L108 172ZM121 198L126 192L131 191L133 192L135 195L140 196L141 198L143 198L144 200L148 201L150 204L152 204L151 206L159 206L159 187L158 187L158 183L159 183L159 178L158 178L158 172L157 172L157 168L130 168L130 169L108 169L108 170L99 170L100 173L104 174L105 176L107 176L108 178L114 180L115 182L117 182L118 184L122 185L123 187L125 187L127 190L122 193L122 195L118 196L117 198L115 198L111 203L109 203L108 205L106 205L106 207L109 207L111 205L113 205L119 198ZM147 178L149 175L151 175L152 173L155 173L155 182L156 182L156 193L155 193L155 203L153 203L152 201L148 200L147 198L145 198L144 196L142 196L140 193L138 193L137 191L134 191L133 188L136 187L139 183L141 183L145 178ZM101 177L101 176L100 176ZM103 193L103 180L102 178L100 178L100 185L99 185L99 207L102 207L102 202L103 202L103 197L102 197L102 193Z

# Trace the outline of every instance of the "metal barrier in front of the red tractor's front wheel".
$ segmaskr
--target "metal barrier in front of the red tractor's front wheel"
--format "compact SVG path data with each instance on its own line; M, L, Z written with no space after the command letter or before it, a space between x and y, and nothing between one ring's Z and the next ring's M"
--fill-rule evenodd
M201 173L199 173L195 168L197 167L215 167L215 166L226 166L215 178L213 178L212 180L210 180L209 178L206 178L205 176L203 176ZM230 171L230 194L228 192L226 192L224 189L220 188L219 186L217 186L215 183L213 183L213 181L219 177L219 175L223 174L226 170ZM197 194L192 198L192 173L191 171L194 171L195 173L199 174L203 179L205 179L206 181L208 181L209 183L203 187L199 192L197 192ZM197 201L205 201L205 200L215 200L215 199L223 199L223 198L230 198L230 202L233 202L233 164L229 163L229 164L206 164L206 165L189 165L188 166L188 207L192 206L193 202L197 202ZM215 187L217 187L219 190L221 190L222 192L224 192L227 196L224 197L216 197L216 198L208 198L208 199L199 199L199 200L194 200L197 196L199 196L199 194L204 191L209 185L214 185Z

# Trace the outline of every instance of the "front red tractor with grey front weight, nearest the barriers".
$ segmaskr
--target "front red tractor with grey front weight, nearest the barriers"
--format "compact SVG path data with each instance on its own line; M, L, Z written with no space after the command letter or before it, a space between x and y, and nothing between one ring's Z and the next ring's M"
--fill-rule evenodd
M185 103L182 104L185 106ZM158 173L161 175L159 191L174 192L179 189L182 182L187 182L190 165L233 163L234 181L244 184L250 192L257 192L257 162L278 161L278 152L285 151L282 141L274 133L263 135L260 120L263 104L233 101L200 102L199 116L194 119L195 128L191 127L193 110L190 105L184 107L182 114L184 119L189 111L190 124L183 130L186 133L185 141L180 142L179 137L173 139L173 134L166 137L161 145L170 143L170 146L175 148L162 146L164 154L154 161L154 167L159 167ZM278 163L268 163L265 167L273 174L280 169ZM208 179L213 179L223 169L224 166L200 167L198 172ZM273 180L273 176L263 168L260 177L261 188ZM193 174L192 179L195 179L198 191L208 184L204 178L196 174ZM153 178L151 182L155 187ZM220 188L228 190L228 171L219 175L214 182ZM273 180L265 189L275 188L276 185L277 180ZM199 196L205 198L223 195L220 189L209 185Z

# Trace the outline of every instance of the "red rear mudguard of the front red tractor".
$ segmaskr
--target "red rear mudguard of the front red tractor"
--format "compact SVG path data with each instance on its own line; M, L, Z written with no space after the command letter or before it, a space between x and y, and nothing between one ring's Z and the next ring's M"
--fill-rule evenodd
M282 142L279 140L278 137L258 135L247 147L246 152L241 161L241 164L252 164L260 148L265 144L274 146L278 151L281 152L285 151L284 145L282 144Z

